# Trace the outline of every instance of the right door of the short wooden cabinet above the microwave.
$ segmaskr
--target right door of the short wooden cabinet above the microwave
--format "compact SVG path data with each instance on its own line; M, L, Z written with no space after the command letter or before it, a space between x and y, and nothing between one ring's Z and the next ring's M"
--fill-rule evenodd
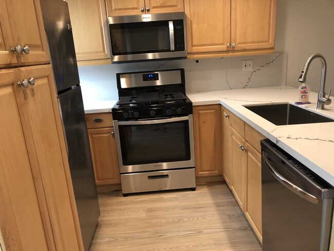
M184 11L183 0L145 0L146 13Z

